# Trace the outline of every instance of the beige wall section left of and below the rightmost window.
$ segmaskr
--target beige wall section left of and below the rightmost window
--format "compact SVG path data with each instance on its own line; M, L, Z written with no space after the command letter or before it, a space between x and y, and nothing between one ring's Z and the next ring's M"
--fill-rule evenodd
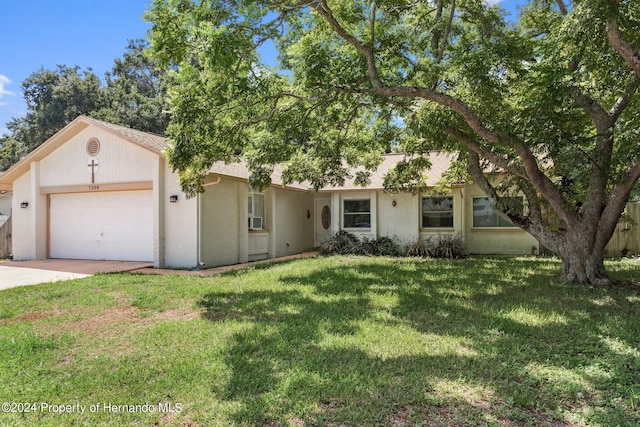
M485 197L476 185L464 191L465 243L471 254L482 255L526 255L537 253L538 241L517 227L476 228L473 227L473 198Z

